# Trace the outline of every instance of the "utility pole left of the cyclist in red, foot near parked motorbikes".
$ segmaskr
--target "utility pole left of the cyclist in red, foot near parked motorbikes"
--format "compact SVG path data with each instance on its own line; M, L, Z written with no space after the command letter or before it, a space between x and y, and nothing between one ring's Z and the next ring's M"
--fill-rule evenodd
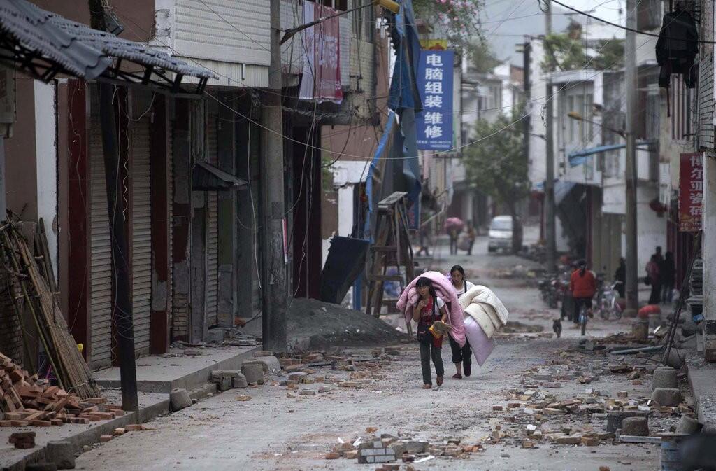
M545 42L544 42L544 53L549 54L548 47L549 44L547 42L547 38L552 33L552 6L551 1L546 0L545 1L545 12L544 12L544 34L545 34ZM546 159L547 159L547 166L546 166L546 177L544 181L544 204L545 204L545 236L547 239L547 246L546 246L546 255L547 255L547 272L553 273L556 270L556 229L555 229L555 221L554 218L556 217L556 211L554 208L554 137L553 137L553 100L552 100L552 61L551 58L548 57L547 63L549 64L549 67L547 68L546 72L546 103L545 103L545 113L546 113L546 119L545 119L545 153L546 153Z

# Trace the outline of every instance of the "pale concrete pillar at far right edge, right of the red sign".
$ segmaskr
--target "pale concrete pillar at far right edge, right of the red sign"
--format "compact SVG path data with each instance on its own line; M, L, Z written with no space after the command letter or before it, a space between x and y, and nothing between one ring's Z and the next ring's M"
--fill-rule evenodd
M716 159L704 158L702 258L704 261L704 357L716 361Z

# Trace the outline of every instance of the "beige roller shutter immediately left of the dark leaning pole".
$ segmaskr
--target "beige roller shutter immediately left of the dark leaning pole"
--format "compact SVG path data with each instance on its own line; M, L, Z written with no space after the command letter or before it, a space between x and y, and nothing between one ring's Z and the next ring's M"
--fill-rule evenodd
M112 247L107 213L105 156L100 120L92 118L89 142L90 319L89 365L112 364Z

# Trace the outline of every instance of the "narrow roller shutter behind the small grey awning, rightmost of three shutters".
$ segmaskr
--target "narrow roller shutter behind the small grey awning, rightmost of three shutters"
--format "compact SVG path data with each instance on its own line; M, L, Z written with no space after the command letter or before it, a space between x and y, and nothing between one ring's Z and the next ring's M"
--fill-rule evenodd
M207 161L218 165L218 133L216 117L207 117ZM206 192L206 323L218 324L218 195Z

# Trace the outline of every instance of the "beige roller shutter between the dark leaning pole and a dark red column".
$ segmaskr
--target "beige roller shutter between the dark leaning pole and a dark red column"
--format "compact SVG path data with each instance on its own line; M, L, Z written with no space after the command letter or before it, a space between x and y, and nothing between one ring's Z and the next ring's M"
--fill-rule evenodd
M135 352L140 355L149 353L152 308L149 133L149 118L132 123L132 317Z

